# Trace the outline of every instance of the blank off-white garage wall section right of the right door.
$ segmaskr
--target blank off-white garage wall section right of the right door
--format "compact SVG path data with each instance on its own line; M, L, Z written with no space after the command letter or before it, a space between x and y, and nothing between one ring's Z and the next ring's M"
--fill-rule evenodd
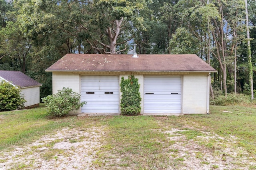
M183 75L183 114L207 113L208 86L208 73Z

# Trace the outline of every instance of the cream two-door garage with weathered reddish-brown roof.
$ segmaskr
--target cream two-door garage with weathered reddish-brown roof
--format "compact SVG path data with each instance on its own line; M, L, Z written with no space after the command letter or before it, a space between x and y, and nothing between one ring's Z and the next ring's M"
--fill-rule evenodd
M209 113L210 72L197 55L67 54L46 69L53 93L62 87L81 94L81 113L120 113L120 80L139 79L141 114Z

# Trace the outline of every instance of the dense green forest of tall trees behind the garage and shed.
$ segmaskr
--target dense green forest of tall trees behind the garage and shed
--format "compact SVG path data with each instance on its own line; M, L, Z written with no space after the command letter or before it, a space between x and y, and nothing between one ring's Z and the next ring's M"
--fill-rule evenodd
M256 1L248 0L256 87ZM20 70L52 94L44 70L66 53L196 54L211 96L250 94L244 0L0 0L0 70ZM255 93L254 93L255 94Z

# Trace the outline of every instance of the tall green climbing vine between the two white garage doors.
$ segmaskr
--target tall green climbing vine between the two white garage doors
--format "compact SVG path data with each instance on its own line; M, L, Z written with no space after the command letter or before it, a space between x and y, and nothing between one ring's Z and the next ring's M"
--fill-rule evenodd
M133 75L128 76L128 79L121 78L121 115L139 115L140 114L140 84L138 78Z

